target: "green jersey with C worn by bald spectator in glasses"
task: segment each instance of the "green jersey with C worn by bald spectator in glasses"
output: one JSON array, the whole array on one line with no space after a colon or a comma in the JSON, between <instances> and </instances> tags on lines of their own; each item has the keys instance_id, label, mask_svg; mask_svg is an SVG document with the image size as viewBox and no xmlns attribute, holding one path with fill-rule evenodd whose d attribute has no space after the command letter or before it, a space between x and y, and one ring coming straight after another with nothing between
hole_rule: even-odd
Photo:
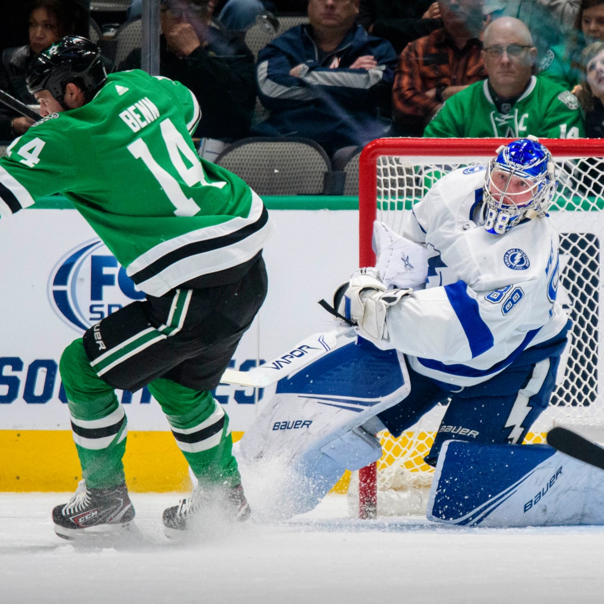
<instances>
[{"instance_id":1,"label":"green jersey with C worn by bald spectator in glasses","mask_svg":"<svg viewBox=\"0 0 604 604\"><path fill-rule=\"evenodd\" d=\"M487 86L476 82L443 104L423 135L432 138L581 138L585 120L579 101L559 84L531 77L528 88L509 108L499 112Z\"/></svg>"}]
</instances>

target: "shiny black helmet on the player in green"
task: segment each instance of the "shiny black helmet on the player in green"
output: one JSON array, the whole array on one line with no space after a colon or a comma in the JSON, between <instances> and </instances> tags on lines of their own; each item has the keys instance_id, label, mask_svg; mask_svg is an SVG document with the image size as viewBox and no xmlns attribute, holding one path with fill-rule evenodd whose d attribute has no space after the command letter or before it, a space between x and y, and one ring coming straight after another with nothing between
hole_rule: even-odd
<instances>
[{"instance_id":1,"label":"shiny black helmet on the player in green","mask_svg":"<svg viewBox=\"0 0 604 604\"><path fill-rule=\"evenodd\" d=\"M100 49L82 36L65 36L45 48L31 61L25 77L31 94L48 90L63 106L69 82L80 86L89 101L106 79Z\"/></svg>"}]
</instances>

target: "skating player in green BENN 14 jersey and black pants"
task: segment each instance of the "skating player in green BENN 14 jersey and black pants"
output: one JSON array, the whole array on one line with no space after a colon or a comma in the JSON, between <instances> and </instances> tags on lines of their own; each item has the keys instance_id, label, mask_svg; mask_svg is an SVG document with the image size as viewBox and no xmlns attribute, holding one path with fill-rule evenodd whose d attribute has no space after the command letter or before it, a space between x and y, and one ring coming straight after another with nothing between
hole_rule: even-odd
<instances>
[{"instance_id":1,"label":"skating player in green BENN 14 jersey and black pants","mask_svg":"<svg viewBox=\"0 0 604 604\"><path fill-rule=\"evenodd\" d=\"M229 420L210 391L266 295L266 208L240 178L199 159L190 137L199 106L180 83L140 70L107 76L98 48L78 36L40 53L27 83L43 119L0 159L0 214L62 193L146 294L63 352L85 484L53 510L57 535L114 532L134 517L114 388L144 385L199 480L164 511L166 534L184 534L216 498L247 518Z\"/></svg>"}]
</instances>

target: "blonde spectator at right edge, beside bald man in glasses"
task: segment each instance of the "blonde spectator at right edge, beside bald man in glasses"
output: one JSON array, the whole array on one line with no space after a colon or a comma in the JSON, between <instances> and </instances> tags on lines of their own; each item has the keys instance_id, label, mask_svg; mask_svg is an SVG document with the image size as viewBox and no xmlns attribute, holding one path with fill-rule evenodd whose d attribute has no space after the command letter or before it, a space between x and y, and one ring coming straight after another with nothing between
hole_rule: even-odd
<instances>
[{"instance_id":1,"label":"blonde spectator at right edge, beside bald man in glasses","mask_svg":"<svg viewBox=\"0 0 604 604\"><path fill-rule=\"evenodd\" d=\"M581 59L584 82L577 98L585 111L585 136L604 138L604 42L592 42Z\"/></svg>"}]
</instances>

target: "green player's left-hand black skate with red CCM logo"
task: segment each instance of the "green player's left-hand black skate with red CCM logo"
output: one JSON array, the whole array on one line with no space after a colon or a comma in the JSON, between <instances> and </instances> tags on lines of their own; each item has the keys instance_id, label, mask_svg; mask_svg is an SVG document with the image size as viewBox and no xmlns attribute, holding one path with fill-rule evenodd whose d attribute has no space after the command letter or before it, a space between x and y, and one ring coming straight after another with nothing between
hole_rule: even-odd
<instances>
[{"instance_id":1,"label":"green player's left-hand black skate with red CCM logo","mask_svg":"<svg viewBox=\"0 0 604 604\"><path fill-rule=\"evenodd\" d=\"M53 509L54 532L63 539L120 533L134 518L125 484L88 489L81 480L71 500Z\"/></svg>"}]
</instances>

